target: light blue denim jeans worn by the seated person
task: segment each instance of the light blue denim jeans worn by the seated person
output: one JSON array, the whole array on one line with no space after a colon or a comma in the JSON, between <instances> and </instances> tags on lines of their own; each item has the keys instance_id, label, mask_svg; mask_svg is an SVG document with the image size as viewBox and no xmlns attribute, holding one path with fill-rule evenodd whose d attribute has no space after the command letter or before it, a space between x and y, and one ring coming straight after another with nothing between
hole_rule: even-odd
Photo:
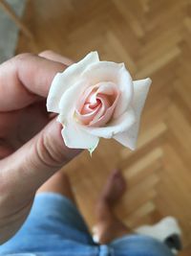
<instances>
[{"instance_id":1,"label":"light blue denim jeans worn by the seated person","mask_svg":"<svg viewBox=\"0 0 191 256\"><path fill-rule=\"evenodd\" d=\"M54 193L34 198L27 221L0 255L22 256L172 256L165 244L142 235L127 235L110 244L95 244L74 204Z\"/></svg>"}]
</instances>

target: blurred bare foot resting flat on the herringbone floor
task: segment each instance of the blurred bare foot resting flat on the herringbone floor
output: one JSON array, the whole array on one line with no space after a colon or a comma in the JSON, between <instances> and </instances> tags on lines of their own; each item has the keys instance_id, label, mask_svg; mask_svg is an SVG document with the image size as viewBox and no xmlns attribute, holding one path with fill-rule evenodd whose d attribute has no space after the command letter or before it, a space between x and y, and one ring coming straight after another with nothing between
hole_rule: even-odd
<instances>
[{"instance_id":1,"label":"blurred bare foot resting flat on the herringbone floor","mask_svg":"<svg viewBox=\"0 0 191 256\"><path fill-rule=\"evenodd\" d=\"M125 178L119 170L114 170L108 177L107 183L99 199L104 200L108 206L114 206L118 199L122 197L125 190Z\"/></svg>"}]
</instances>

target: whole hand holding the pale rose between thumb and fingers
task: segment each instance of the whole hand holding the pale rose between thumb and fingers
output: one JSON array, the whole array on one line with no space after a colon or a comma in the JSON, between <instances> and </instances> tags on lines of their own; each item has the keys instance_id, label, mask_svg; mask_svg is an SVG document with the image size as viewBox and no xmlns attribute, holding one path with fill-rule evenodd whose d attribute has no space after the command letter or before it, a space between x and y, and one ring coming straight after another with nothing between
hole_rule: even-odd
<instances>
[{"instance_id":1,"label":"whole hand holding the pale rose between thumb and fingers","mask_svg":"<svg viewBox=\"0 0 191 256\"><path fill-rule=\"evenodd\" d=\"M0 65L0 244L26 220L35 191L79 152L46 111L53 77L70 63L44 52Z\"/></svg>"}]
</instances>

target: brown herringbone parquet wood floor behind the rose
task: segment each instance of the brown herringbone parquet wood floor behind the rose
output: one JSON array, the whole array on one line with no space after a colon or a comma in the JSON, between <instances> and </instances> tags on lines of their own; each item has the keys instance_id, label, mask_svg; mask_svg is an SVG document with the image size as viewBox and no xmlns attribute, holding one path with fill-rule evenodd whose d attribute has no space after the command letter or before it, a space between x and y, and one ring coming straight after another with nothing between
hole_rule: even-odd
<instances>
[{"instance_id":1,"label":"brown herringbone parquet wood floor behind the rose","mask_svg":"<svg viewBox=\"0 0 191 256\"><path fill-rule=\"evenodd\" d=\"M101 59L124 61L134 79L152 78L138 150L103 140L92 158L84 152L66 170L92 225L107 175L121 168L128 191L117 215L131 227L175 216L183 230L182 255L190 255L191 1L31 0L24 20L35 44L20 35L18 53L52 49L79 59L97 50Z\"/></svg>"}]
</instances>

